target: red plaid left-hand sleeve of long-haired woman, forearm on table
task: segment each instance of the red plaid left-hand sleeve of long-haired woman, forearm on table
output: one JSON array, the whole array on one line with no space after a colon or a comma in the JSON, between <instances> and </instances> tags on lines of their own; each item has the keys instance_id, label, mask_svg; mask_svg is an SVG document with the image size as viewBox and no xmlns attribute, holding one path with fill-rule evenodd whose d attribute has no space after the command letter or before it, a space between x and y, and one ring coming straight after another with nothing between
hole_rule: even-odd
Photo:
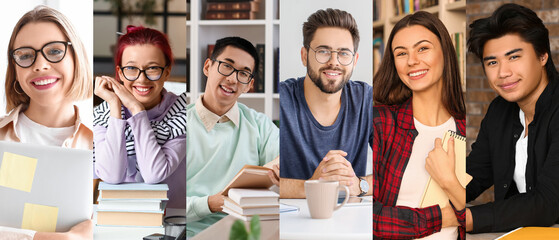
<instances>
[{"instance_id":1,"label":"red plaid left-hand sleeve of long-haired woman, forearm on table","mask_svg":"<svg viewBox=\"0 0 559 240\"><path fill-rule=\"evenodd\" d=\"M379 117L375 111L374 116ZM382 120L381 120L382 121ZM374 238L412 239L441 231L442 213L438 205L427 208L387 206L379 201L386 179L379 175L383 156L381 127L373 124L373 235Z\"/></svg>"}]
</instances>

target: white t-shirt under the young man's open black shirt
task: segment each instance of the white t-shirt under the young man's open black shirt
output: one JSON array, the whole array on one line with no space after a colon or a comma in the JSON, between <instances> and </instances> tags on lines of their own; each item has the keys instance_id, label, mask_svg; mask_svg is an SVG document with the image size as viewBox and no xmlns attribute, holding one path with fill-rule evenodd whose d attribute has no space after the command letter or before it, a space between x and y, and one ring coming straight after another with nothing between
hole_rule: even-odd
<instances>
[{"instance_id":1,"label":"white t-shirt under the young man's open black shirt","mask_svg":"<svg viewBox=\"0 0 559 240\"><path fill-rule=\"evenodd\" d=\"M522 124L522 133L516 141L516 154L514 166L514 182L518 188L518 192L526 192L526 164L528 163L528 136L526 136L526 120L522 109L518 112L520 123Z\"/></svg>"}]
</instances>

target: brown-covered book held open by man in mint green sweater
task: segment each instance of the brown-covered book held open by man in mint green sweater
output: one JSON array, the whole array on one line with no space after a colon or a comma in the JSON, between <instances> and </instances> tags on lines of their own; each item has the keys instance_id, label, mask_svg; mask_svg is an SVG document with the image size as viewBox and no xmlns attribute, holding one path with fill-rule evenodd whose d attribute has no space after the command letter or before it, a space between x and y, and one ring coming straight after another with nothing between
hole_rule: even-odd
<instances>
[{"instance_id":1,"label":"brown-covered book held open by man in mint green sweater","mask_svg":"<svg viewBox=\"0 0 559 240\"><path fill-rule=\"evenodd\" d=\"M231 188L265 188L268 189L274 185L268 171L272 169L267 167L245 165L233 179L223 188L222 194L228 196Z\"/></svg>"}]
</instances>

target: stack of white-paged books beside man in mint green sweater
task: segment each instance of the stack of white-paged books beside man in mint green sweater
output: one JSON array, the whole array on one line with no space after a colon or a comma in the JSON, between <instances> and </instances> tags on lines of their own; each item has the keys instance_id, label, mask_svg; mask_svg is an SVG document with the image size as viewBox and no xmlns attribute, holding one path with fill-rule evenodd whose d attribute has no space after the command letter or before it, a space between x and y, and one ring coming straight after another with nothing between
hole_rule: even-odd
<instances>
[{"instance_id":1,"label":"stack of white-paged books beside man in mint green sweater","mask_svg":"<svg viewBox=\"0 0 559 240\"><path fill-rule=\"evenodd\" d=\"M279 194L268 189L231 188L223 203L223 212L244 221L254 215L260 220L279 219Z\"/></svg>"}]
</instances>

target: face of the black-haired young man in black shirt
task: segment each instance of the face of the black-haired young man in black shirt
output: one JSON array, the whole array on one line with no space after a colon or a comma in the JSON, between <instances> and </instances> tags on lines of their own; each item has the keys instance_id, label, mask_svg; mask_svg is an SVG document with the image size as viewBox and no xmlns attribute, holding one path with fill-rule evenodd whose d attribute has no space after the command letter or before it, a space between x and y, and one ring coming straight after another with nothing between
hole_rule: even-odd
<instances>
[{"instance_id":1,"label":"face of the black-haired young man in black shirt","mask_svg":"<svg viewBox=\"0 0 559 240\"><path fill-rule=\"evenodd\" d=\"M533 46L517 34L487 41L483 66L489 85L509 102L535 103L547 86L547 53L537 56Z\"/></svg>"}]
</instances>

